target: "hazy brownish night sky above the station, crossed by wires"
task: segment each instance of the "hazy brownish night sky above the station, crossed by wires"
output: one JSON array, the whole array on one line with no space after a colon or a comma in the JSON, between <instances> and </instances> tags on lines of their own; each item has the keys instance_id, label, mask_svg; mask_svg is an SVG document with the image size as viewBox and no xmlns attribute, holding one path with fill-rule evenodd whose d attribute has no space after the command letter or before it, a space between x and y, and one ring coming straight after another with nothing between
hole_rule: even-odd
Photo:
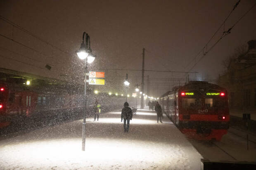
<instances>
[{"instance_id":1,"label":"hazy brownish night sky above the station, crossed by wires","mask_svg":"<svg viewBox=\"0 0 256 170\"><path fill-rule=\"evenodd\" d=\"M75 52L85 31L90 35L91 48L97 56L90 70L140 70L144 47L146 70L189 71L202 53L195 60L193 58L210 40L237 1L1 0L0 16L58 49L0 19L0 68L82 82L84 63ZM225 22L225 31L255 3L255 0L241 0ZM220 38L223 30L221 27L208 44L208 49ZM191 71L198 74L196 77L190 74L190 78L217 79L223 72L222 60L236 47L252 39L256 39L256 6L192 68ZM52 69L45 68L46 64ZM141 83L141 72L108 70L107 84L93 88L122 93L126 73L131 82L129 92L132 92L134 85ZM179 84L163 80L185 79L184 73L145 72L146 85L147 75L150 95L154 96Z\"/></svg>"}]
</instances>

